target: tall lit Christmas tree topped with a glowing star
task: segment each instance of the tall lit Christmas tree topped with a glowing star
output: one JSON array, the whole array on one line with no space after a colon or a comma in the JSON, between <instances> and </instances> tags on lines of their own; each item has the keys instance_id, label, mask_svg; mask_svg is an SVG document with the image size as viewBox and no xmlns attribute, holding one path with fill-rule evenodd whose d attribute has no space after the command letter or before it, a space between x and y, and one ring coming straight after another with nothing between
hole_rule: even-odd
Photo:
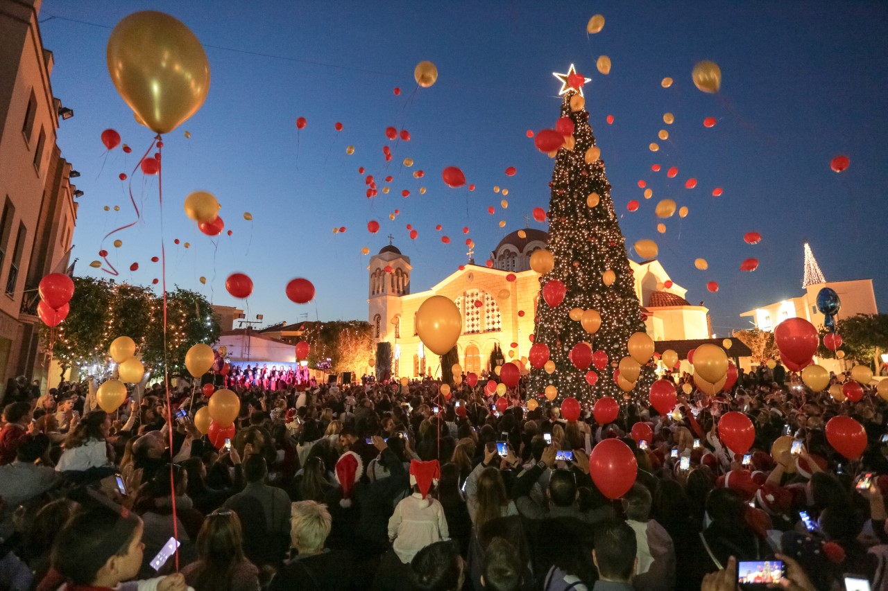
<instances>
[{"instance_id":1,"label":"tall lit Christmas tree topped with a glowing star","mask_svg":"<svg viewBox=\"0 0 888 591\"><path fill-rule=\"evenodd\" d=\"M611 201L611 185L584 106L582 87L588 79L577 75L573 65L567 74L556 74L556 77L562 82L560 94L563 95L561 119L556 128L565 135L565 144L555 157L550 183L547 248L554 266L540 277L542 291L534 331L534 343L548 346L554 371L533 368L528 394L538 396L551 385L558 389L557 401L568 396L587 403L594 403L602 396L622 400L623 390L614 382L614 370L628 355L630 335L646 332L645 324L626 256L625 239ZM552 281L556 289L550 293L555 297L550 297L547 303L547 284ZM564 284L565 295L563 301L555 304L560 288L558 281ZM594 329L596 315L586 312L587 318L581 322L583 311L598 312L600 326L594 333L583 325ZM591 345L591 351L596 351L595 363L588 368L579 368L572 361L575 358L572 350L583 342ZM577 352L583 353L583 347L579 349ZM598 351L604 351L607 360ZM583 359L574 360L578 360L580 366L585 365ZM551 370L551 364L548 369ZM634 392L646 393L653 380L650 368L642 367Z\"/></svg>"}]
</instances>

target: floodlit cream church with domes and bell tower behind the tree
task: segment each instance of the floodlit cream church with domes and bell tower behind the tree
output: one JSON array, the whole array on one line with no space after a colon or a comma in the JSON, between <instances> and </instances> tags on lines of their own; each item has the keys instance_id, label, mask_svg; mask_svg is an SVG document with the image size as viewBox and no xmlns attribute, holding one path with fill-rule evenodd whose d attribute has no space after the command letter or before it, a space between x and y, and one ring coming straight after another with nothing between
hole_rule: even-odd
<instances>
[{"instance_id":1,"label":"floodlit cream church with domes and bell tower behind the tree","mask_svg":"<svg viewBox=\"0 0 888 591\"><path fill-rule=\"evenodd\" d=\"M392 344L392 374L440 375L439 359L416 335L416 311L426 298L446 296L463 315L463 335L456 343L464 371L490 371L490 354L498 346L506 359L527 367L534 315L540 292L539 275L530 256L545 248L549 235L525 228L511 232L490 253L488 264L462 265L425 291L411 293L410 257L389 244L370 258L369 321L374 343ZM470 250L470 253L472 251ZM470 254L471 256L471 254ZM709 339L709 309L685 299L686 289L670 280L656 261L635 263L635 291L642 303L647 334L654 341Z\"/></svg>"}]
</instances>

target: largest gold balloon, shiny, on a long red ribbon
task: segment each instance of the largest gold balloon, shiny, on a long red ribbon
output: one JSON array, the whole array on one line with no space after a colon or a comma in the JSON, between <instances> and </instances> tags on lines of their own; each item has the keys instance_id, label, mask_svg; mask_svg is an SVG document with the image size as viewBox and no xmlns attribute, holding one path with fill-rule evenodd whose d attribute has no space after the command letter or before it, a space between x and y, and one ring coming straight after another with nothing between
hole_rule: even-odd
<instances>
[{"instance_id":1,"label":"largest gold balloon, shiny, on a long red ribbon","mask_svg":"<svg viewBox=\"0 0 888 591\"><path fill-rule=\"evenodd\" d=\"M155 133L175 130L210 91L201 42L163 12L133 12L117 23L108 38L107 66L137 121Z\"/></svg>"}]
</instances>

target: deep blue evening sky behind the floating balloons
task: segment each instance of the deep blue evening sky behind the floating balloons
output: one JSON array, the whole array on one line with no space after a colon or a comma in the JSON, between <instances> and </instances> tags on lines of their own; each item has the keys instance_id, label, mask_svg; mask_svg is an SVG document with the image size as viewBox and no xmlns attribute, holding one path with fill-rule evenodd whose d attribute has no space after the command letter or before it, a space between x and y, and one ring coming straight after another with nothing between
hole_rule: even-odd
<instances>
[{"instance_id":1,"label":"deep blue evening sky behind the floating balloons","mask_svg":"<svg viewBox=\"0 0 888 591\"><path fill-rule=\"evenodd\" d=\"M89 263L98 258L102 236L134 219L127 185L117 175L131 174L152 134L117 95L105 48L118 20L146 9L169 12L210 46L209 97L164 139L170 286L246 307L225 290L229 273L246 272L255 283L250 314L262 313L266 322L297 321L304 313L365 319L369 257L361 248L376 252L390 232L411 258L413 291L465 262L464 226L483 262L497 241L524 227L525 216L549 200L553 161L535 150L525 131L554 125L560 102L551 72L575 63L592 79L586 106L627 243L656 240L663 266L688 289L691 303L710 307L719 335L748 326L741 311L801 294L805 240L828 280L872 278L884 303L885 4L45 0L40 18L44 45L55 54L53 92L75 110L61 122L59 145L82 173L73 252L80 274L107 277ZM587 35L586 21L595 13L607 23ZM46 20L51 15L58 18ZM613 62L607 76L596 70L599 55ZM425 59L440 77L413 96L413 68ZM718 95L691 82L701 59L721 67ZM664 76L675 79L670 89L660 85ZM663 124L666 112L675 114L674 124ZM607 114L614 115L613 125ZM299 116L308 125L297 132ZM702 126L708 116L718 119L714 128ZM334 130L335 122L345 129ZM406 127L411 140L388 142L389 125ZM132 154L118 147L103 168L99 134L106 128L118 130ZM661 129L669 140L657 139ZM656 154L647 147L652 141L661 146ZM394 151L388 166L386 144ZM350 145L353 155L345 154ZM829 169L838 154L851 158L840 175ZM412 169L401 165L407 157L416 162ZM654 163L662 164L661 172L652 172ZM462 168L477 189L445 186L440 173L449 165ZM379 189L392 175L391 193L380 190L368 200L360 166L376 176ZM509 166L518 169L516 176L505 176ZM678 166L678 177L666 177L670 166ZM418 169L424 178L413 177ZM684 188L688 177L698 181L693 190ZM651 200L643 198L639 179L653 189ZM495 185L509 190L508 209L500 207ZM421 186L428 188L424 195ZM715 187L723 188L721 197L711 195ZM233 236L210 239L186 218L182 202L198 189L218 197ZM403 189L411 192L407 199ZM150 284L160 277L160 264L150 262L160 255L162 238L156 177L137 173L132 191L144 206L143 220L108 239L106 248L122 280ZM690 213L665 220L661 235L654 206L662 198ZM629 213L633 199L641 207ZM491 205L495 215L488 215ZM395 209L400 215L392 222ZM243 219L245 211L252 222ZM372 219L382 226L375 235L367 231ZM408 224L419 232L417 240L409 240ZM530 225L543 228L532 219ZM334 234L340 226L347 232ZM764 240L746 245L749 231ZM441 235L451 243L443 244ZM111 246L115 238L123 240L121 248ZM759 269L740 272L749 256L757 256ZM696 257L709 261L709 271L694 269ZM129 271L133 262L139 271ZM313 281L315 302L289 302L284 286L293 277ZM710 280L718 281L718 293L706 290Z\"/></svg>"}]
</instances>

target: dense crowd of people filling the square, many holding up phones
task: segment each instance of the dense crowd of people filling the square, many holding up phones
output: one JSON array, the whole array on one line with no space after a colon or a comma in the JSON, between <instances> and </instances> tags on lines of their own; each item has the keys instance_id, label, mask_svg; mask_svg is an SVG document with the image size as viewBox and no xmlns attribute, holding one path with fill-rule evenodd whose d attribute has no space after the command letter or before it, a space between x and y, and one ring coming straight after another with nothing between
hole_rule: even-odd
<instances>
[{"instance_id":1,"label":"dense crowd of people filling the square, many holding up phones","mask_svg":"<svg viewBox=\"0 0 888 591\"><path fill-rule=\"evenodd\" d=\"M868 386L839 403L741 372L731 392L678 388L670 414L630 401L598 424L511 392L501 414L465 382L235 385L234 437L213 445L193 422L209 398L184 382L170 406L155 384L114 413L88 382L25 385L0 430L0 589L888 588L888 403ZM719 437L728 411L755 424L748 458ZM867 431L857 461L825 437L839 414ZM638 463L618 500L589 461L613 437Z\"/></svg>"}]
</instances>

